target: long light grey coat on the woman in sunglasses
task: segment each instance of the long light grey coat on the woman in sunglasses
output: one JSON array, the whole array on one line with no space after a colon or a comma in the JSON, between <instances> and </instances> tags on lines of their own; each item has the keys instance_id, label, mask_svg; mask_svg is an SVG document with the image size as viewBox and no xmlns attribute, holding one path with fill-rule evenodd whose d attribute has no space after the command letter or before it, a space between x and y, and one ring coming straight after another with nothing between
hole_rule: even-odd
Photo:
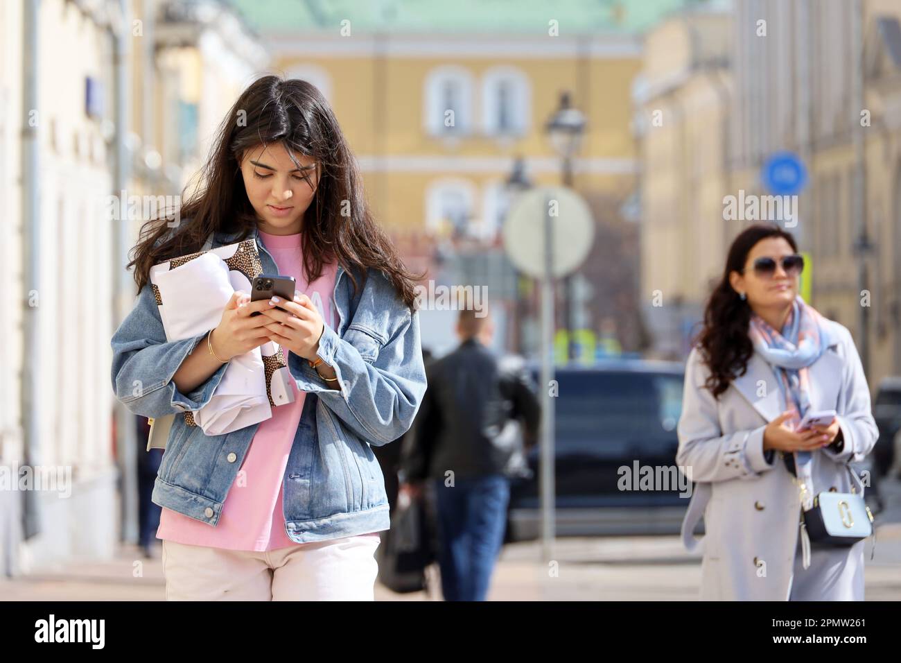
<instances>
[{"instance_id":1,"label":"long light grey coat on the woman in sunglasses","mask_svg":"<svg viewBox=\"0 0 901 663\"><path fill-rule=\"evenodd\" d=\"M839 413L844 447L814 452L814 493L850 493L847 464L869 454L878 430L851 333L834 321L828 327L831 343L810 366L810 401L813 410ZM697 482L682 535L688 549L704 552L701 598L862 600L865 541L814 548L807 569L798 560L798 488L778 454L770 464L763 453L763 429L783 410L769 364L755 352L718 401L704 388L708 374L695 348L687 360L677 463ZM702 514L705 537L697 541L692 530Z\"/></svg>"}]
</instances>

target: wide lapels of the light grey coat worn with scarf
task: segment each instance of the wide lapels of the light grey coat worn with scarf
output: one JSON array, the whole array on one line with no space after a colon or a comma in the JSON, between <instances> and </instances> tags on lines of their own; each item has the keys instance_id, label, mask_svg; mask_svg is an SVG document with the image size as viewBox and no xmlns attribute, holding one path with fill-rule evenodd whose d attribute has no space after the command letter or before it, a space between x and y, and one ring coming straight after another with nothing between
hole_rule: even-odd
<instances>
[{"instance_id":1,"label":"wide lapels of the light grey coat worn with scarf","mask_svg":"<svg viewBox=\"0 0 901 663\"><path fill-rule=\"evenodd\" d=\"M829 345L823 355L810 365L810 404L815 410L833 408L841 387L843 361L834 352L838 335L829 336ZM748 360L748 370L732 384L767 421L776 419L782 412L782 392L776 382L776 373L756 350Z\"/></svg>"}]
</instances>

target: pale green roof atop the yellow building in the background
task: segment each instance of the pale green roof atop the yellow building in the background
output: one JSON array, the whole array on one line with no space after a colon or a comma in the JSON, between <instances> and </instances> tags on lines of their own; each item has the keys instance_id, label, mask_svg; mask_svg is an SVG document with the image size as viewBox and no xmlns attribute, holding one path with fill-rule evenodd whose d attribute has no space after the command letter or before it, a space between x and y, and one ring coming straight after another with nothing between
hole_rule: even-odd
<instances>
[{"instance_id":1,"label":"pale green roof atop the yellow building in the background","mask_svg":"<svg viewBox=\"0 0 901 663\"><path fill-rule=\"evenodd\" d=\"M256 32L479 32L547 34L644 32L687 5L704 0L228 0Z\"/></svg>"}]
</instances>

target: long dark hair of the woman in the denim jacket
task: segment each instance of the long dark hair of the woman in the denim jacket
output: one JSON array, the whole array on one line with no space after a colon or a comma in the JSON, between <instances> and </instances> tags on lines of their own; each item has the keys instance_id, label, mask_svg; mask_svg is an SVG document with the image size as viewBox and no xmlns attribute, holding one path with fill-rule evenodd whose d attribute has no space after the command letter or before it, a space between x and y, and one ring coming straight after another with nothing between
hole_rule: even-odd
<instances>
[{"instance_id":1,"label":"long dark hair of the woman in the denim jacket","mask_svg":"<svg viewBox=\"0 0 901 663\"><path fill-rule=\"evenodd\" d=\"M323 262L337 259L350 274L375 267L390 280L413 310L414 281L385 232L378 226L363 194L362 178L332 108L312 84L296 78L265 76L250 84L232 106L216 136L200 186L181 207L183 222L173 231L172 214L150 219L132 249L134 281L140 291L158 262L199 251L214 231L246 237L257 224L241 176L241 154L257 145L282 143L297 167L293 152L314 157L320 179L302 229L304 269L308 281L322 273ZM348 215L348 213L350 213ZM308 220L309 219L309 220ZM170 236L164 237L169 231ZM238 241L238 240L236 240Z\"/></svg>"}]
</instances>

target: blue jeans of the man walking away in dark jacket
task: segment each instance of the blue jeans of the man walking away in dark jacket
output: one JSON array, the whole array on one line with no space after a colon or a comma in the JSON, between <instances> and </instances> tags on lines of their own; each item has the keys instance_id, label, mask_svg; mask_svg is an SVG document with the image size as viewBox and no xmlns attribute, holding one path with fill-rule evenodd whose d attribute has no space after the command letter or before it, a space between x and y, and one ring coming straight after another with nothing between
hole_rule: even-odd
<instances>
[{"instance_id":1,"label":"blue jeans of the man walking away in dark jacket","mask_svg":"<svg viewBox=\"0 0 901 663\"><path fill-rule=\"evenodd\" d=\"M504 541L509 479L486 474L433 487L444 600L484 601Z\"/></svg>"}]
</instances>

